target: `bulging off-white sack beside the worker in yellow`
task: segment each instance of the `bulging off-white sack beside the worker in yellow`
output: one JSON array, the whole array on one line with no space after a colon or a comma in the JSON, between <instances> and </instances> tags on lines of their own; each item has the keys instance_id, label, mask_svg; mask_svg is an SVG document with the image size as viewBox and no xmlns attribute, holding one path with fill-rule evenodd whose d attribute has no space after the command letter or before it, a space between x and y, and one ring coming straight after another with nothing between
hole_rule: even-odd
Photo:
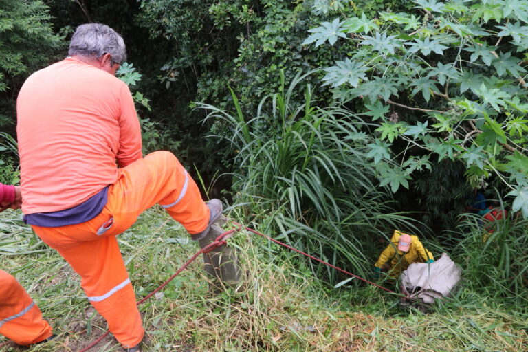
<instances>
[{"instance_id":1,"label":"bulging off-white sack beside the worker in yellow","mask_svg":"<svg viewBox=\"0 0 528 352\"><path fill-rule=\"evenodd\" d=\"M460 281L461 269L443 253L434 263L412 263L401 274L401 292L411 300L433 303L448 297Z\"/></svg>"}]
</instances>

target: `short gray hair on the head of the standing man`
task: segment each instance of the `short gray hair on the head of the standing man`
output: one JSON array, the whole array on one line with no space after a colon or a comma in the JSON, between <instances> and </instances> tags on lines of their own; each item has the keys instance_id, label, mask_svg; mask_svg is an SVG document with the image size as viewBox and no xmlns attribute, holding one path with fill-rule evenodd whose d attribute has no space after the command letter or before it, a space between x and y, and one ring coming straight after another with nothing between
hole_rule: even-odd
<instances>
[{"instance_id":1,"label":"short gray hair on the head of the standing man","mask_svg":"<svg viewBox=\"0 0 528 352\"><path fill-rule=\"evenodd\" d=\"M126 47L122 36L107 25L87 23L78 26L69 43L68 55L99 58L110 54L114 63L126 60Z\"/></svg>"}]
</instances>

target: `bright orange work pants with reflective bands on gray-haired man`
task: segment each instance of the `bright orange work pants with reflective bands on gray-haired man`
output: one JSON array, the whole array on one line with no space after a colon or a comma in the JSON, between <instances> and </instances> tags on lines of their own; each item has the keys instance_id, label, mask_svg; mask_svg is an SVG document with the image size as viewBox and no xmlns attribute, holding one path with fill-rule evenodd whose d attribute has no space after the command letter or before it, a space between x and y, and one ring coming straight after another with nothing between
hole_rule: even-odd
<instances>
[{"instance_id":1,"label":"bright orange work pants with reflective bands on gray-haired man","mask_svg":"<svg viewBox=\"0 0 528 352\"><path fill-rule=\"evenodd\" d=\"M156 203L190 234L206 229L210 210L172 153L151 153L118 172L118 180L109 186L107 205L94 219L57 228L32 227L81 276L88 300L115 338L123 347L133 347L142 340L144 329L115 236Z\"/></svg>"}]
</instances>

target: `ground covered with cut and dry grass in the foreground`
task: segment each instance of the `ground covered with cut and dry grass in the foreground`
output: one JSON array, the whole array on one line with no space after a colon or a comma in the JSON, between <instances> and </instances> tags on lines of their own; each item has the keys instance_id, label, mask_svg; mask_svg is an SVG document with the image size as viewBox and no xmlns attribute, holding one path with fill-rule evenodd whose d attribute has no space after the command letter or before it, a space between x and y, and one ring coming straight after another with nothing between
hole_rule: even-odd
<instances>
[{"instance_id":1,"label":"ground covered with cut and dry grass in the foreground","mask_svg":"<svg viewBox=\"0 0 528 352\"><path fill-rule=\"evenodd\" d=\"M1 214L0 267L17 277L59 336L30 348L0 337L0 351L77 352L101 336L106 323L89 305L78 275L20 217ZM199 250L158 209L145 212L119 239L137 298ZM241 252L243 287L213 294L197 259L140 305L143 351L527 351L527 305L489 300L462 282L453 299L423 314L373 286L335 289L318 281L298 254L259 236L239 232L229 241ZM109 336L90 351L120 346Z\"/></svg>"}]
</instances>

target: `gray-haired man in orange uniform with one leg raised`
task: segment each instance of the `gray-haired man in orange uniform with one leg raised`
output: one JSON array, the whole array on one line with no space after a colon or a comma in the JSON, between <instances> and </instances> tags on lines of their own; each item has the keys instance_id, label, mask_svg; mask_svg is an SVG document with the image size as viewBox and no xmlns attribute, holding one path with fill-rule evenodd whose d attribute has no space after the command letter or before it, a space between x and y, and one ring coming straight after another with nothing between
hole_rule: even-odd
<instances>
[{"instance_id":1,"label":"gray-haired man in orange uniform with one leg raised","mask_svg":"<svg viewBox=\"0 0 528 352\"><path fill-rule=\"evenodd\" d=\"M126 59L119 34L99 23L80 25L68 54L32 74L19 93L22 210L80 274L88 300L125 351L140 351L144 329L115 236L159 203L199 240L222 205L203 202L172 153L142 157L132 96L115 78Z\"/></svg>"}]
</instances>

